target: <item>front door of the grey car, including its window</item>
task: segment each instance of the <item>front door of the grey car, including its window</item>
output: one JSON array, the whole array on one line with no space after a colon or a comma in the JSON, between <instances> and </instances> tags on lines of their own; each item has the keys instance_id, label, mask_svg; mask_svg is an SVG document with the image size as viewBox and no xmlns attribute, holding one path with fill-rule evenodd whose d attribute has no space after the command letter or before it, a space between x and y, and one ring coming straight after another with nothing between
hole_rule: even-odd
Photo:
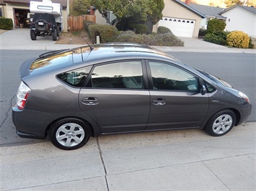
<instances>
[{"instance_id":1,"label":"front door of the grey car, including its window","mask_svg":"<svg viewBox=\"0 0 256 191\"><path fill-rule=\"evenodd\" d=\"M208 94L198 76L167 62L149 60L150 115L146 130L198 127L208 112Z\"/></svg>"}]
</instances>

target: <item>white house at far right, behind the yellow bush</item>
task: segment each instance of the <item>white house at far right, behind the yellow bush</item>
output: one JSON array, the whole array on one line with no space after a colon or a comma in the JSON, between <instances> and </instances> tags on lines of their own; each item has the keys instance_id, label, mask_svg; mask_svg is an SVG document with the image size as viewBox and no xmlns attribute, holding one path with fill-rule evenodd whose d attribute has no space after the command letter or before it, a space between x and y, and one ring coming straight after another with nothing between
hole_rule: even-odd
<instances>
[{"instance_id":1,"label":"white house at far right, behind the yellow bush","mask_svg":"<svg viewBox=\"0 0 256 191\"><path fill-rule=\"evenodd\" d=\"M256 38L256 8L253 6L234 5L219 13L226 17L226 30L239 30Z\"/></svg>"}]
</instances>

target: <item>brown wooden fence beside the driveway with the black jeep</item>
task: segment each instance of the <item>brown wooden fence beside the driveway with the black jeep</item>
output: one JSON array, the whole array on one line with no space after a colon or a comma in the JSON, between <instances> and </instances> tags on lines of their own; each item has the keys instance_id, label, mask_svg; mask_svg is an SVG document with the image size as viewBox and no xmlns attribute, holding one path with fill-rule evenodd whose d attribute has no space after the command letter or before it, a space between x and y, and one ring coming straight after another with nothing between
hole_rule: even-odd
<instances>
[{"instance_id":1,"label":"brown wooden fence beside the driveway with the black jeep","mask_svg":"<svg viewBox=\"0 0 256 191\"><path fill-rule=\"evenodd\" d=\"M84 29L84 21L96 22L96 16L89 14L84 14L81 16L69 16L69 31L74 32Z\"/></svg>"}]
</instances>

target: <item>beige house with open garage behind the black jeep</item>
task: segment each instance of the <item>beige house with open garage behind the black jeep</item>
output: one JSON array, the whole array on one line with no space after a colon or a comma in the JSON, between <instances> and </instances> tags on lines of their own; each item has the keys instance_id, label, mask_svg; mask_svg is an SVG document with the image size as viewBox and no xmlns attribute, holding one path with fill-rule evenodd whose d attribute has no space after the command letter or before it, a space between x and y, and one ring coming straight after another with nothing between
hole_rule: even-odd
<instances>
[{"instance_id":1,"label":"beige house with open garage behind the black jeep","mask_svg":"<svg viewBox=\"0 0 256 191\"><path fill-rule=\"evenodd\" d=\"M42 1L42 0L33 0ZM68 0L52 0L53 3L61 4L63 27L62 31L68 30L69 1ZM30 12L30 0L0 0L0 17L11 18L14 27L17 28L15 17L19 18L19 22L26 25L27 14Z\"/></svg>"}]
</instances>

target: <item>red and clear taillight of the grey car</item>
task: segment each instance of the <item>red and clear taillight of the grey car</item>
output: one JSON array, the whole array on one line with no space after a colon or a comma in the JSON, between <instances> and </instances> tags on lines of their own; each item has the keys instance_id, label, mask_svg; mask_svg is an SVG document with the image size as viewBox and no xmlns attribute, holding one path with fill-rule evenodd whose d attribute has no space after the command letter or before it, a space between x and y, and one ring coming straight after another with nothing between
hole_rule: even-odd
<instances>
[{"instance_id":1,"label":"red and clear taillight of the grey car","mask_svg":"<svg viewBox=\"0 0 256 191\"><path fill-rule=\"evenodd\" d=\"M24 109L29 95L30 95L30 88L28 88L27 85L25 85L25 83L21 82L17 92L17 107L19 109L21 110Z\"/></svg>"}]
</instances>

